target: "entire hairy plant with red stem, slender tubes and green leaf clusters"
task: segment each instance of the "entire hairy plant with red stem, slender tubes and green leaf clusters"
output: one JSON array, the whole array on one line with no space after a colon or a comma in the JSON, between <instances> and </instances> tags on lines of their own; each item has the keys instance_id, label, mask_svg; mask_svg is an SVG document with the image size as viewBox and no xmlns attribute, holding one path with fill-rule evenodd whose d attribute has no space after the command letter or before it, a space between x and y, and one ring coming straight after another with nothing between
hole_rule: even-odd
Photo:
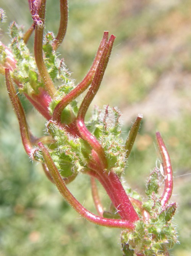
<instances>
[{"instance_id":1,"label":"entire hairy plant with red stem, slender tubes and green leaf clusters","mask_svg":"<svg viewBox=\"0 0 191 256\"><path fill-rule=\"evenodd\" d=\"M117 108L107 105L99 110L95 107L91 119L85 121L104 76L115 36L109 37L108 32L104 32L89 72L75 86L64 60L58 59L56 54L66 33L67 0L60 0L57 36L53 33L44 35L46 0L28 2L33 19L31 28L23 33L23 29L13 22L10 45L0 43L0 73L6 78L26 153L42 163L47 177L79 215L97 225L123 230L121 244L124 255L169 255L169 249L177 241L172 223L176 204L168 203L172 195L173 174L170 157L159 132L156 137L162 157L163 193L159 195L160 171L155 168L147 182L147 199L143 199L130 188L125 190L121 184L121 175L138 134L142 115L136 117L125 142L121 137L121 113ZM34 57L27 47L33 31ZM76 99L86 89L87 94L79 104ZM24 94L47 120L45 136L37 138L31 134L18 94ZM91 178L97 214L84 208L66 186L78 173ZM110 197L108 211L104 211L95 180L102 184Z\"/></svg>"}]
</instances>

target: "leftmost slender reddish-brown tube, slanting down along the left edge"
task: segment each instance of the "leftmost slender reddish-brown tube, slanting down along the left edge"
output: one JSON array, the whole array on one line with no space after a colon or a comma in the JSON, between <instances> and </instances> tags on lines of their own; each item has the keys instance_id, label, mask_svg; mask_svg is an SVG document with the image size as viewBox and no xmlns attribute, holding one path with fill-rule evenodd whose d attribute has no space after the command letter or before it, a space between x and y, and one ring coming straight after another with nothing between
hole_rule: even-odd
<instances>
[{"instance_id":1,"label":"leftmost slender reddish-brown tube, slanting down along the left edge","mask_svg":"<svg viewBox=\"0 0 191 256\"><path fill-rule=\"evenodd\" d=\"M6 87L7 87L8 93L9 93L9 97L10 97L11 103L15 109L16 116L19 121L19 128L20 128L20 132L21 132L21 139L23 142L23 146L24 146L26 153L28 155L30 155L32 152L32 145L31 145L31 141L30 141L28 124L26 122L24 109L23 109L21 102L19 100L19 97L16 93L16 89L13 86L13 83L11 81L11 75L10 75L10 71L8 68L5 69L5 78L6 78Z\"/></svg>"}]
</instances>

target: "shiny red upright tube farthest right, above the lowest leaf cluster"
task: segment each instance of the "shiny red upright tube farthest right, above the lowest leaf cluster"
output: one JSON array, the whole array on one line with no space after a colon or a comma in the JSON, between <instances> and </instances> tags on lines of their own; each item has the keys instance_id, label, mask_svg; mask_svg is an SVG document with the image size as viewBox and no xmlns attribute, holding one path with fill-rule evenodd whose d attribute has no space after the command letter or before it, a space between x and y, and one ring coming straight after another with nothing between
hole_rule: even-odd
<instances>
[{"instance_id":1,"label":"shiny red upright tube farthest right, above the lowest leaf cluster","mask_svg":"<svg viewBox=\"0 0 191 256\"><path fill-rule=\"evenodd\" d=\"M168 154L167 148L166 148L159 132L156 132L156 137L157 137L160 154L161 154L162 161L163 161L164 180L165 180L165 187L164 187L162 197L160 198L160 201L161 201L162 206L165 207L172 195L173 172L172 172L172 165L170 162L170 156Z\"/></svg>"}]
</instances>

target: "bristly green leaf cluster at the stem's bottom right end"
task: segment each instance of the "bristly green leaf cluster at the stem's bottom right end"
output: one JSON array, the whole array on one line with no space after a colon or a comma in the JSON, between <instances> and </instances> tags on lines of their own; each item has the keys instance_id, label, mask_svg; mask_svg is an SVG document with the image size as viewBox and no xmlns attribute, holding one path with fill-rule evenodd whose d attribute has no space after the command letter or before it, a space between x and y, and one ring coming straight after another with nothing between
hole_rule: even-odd
<instances>
[{"instance_id":1,"label":"bristly green leaf cluster at the stem's bottom right end","mask_svg":"<svg viewBox=\"0 0 191 256\"><path fill-rule=\"evenodd\" d=\"M176 204L163 208L159 200L158 188L159 173L155 168L147 182L147 201L142 204L142 213L146 211L145 219L136 222L133 232L122 232L121 243L124 255L139 255L139 253L148 256L165 255L177 243L176 226L173 224Z\"/></svg>"}]
</instances>

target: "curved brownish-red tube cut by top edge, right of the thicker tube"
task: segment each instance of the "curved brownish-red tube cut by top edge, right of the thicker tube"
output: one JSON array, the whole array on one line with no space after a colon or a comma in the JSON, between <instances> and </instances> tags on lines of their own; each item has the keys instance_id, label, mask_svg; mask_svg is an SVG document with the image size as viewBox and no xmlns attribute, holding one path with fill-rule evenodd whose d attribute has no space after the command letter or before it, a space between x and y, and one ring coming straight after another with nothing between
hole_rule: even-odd
<instances>
[{"instance_id":1,"label":"curved brownish-red tube cut by top edge, right of the thicker tube","mask_svg":"<svg viewBox=\"0 0 191 256\"><path fill-rule=\"evenodd\" d=\"M66 35L67 24L68 24L68 1L60 0L60 26L58 29L58 35L52 44L52 48L54 51L58 49L58 47L61 45Z\"/></svg>"}]
</instances>

